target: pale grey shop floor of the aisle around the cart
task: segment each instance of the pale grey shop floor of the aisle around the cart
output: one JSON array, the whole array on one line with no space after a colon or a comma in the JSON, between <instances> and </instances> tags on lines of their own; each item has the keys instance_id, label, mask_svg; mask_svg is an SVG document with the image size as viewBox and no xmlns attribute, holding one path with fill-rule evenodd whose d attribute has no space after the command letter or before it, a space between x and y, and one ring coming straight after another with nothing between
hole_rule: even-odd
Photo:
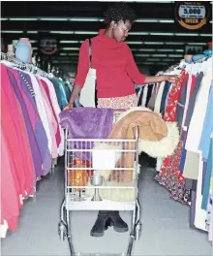
<instances>
[{"instance_id":1,"label":"pale grey shop floor of the aisle around the cart","mask_svg":"<svg viewBox=\"0 0 213 256\"><path fill-rule=\"evenodd\" d=\"M212 247L206 234L189 228L189 208L169 199L167 190L153 180L153 169L144 169L139 178L139 200L142 207L142 236L135 242L133 255L139 256L210 256ZM63 170L58 168L38 185L36 199L25 202L18 230L2 240L2 255L65 256L66 241L59 240L57 225L63 199ZM72 217L76 251L105 252L106 255L126 251L128 236L112 228L104 238L90 237L97 212L75 212ZM130 212L121 213L130 224Z\"/></svg>"}]
</instances>

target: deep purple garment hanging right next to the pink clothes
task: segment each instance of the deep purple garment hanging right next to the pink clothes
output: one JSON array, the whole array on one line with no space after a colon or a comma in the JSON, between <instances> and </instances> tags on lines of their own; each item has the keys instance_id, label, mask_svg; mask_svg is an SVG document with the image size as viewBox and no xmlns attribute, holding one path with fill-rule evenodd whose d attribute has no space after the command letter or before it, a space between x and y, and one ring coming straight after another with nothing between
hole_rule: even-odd
<instances>
[{"instance_id":1,"label":"deep purple garment hanging right next to the pink clothes","mask_svg":"<svg viewBox=\"0 0 213 256\"><path fill-rule=\"evenodd\" d=\"M35 138L35 134L33 132L33 127L32 127L31 121L30 121L29 113L27 111L26 104L23 100L23 97L20 93L20 89L17 86L13 72L10 69L7 69L7 72L8 72L10 84L15 92L16 99L19 102L21 111L23 113L23 118L24 118L26 130L27 130L27 137L29 140L31 154L32 154L32 158L33 158L33 164L34 164L34 168L36 171L36 177L40 177L43 174L42 158L41 158L39 146L38 146L36 138Z\"/></svg>"}]
</instances>

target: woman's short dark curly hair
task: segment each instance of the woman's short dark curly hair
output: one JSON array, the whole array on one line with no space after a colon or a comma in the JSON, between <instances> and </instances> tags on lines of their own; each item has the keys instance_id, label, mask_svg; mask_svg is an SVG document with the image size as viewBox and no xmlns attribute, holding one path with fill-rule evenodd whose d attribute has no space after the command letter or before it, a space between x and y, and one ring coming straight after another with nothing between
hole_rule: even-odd
<instances>
[{"instance_id":1,"label":"woman's short dark curly hair","mask_svg":"<svg viewBox=\"0 0 213 256\"><path fill-rule=\"evenodd\" d=\"M126 20L129 20L133 23L137 19L134 10L125 3L117 3L109 7L105 12L104 17L107 26L110 25L111 21L118 22L123 20L126 22Z\"/></svg>"}]
</instances>

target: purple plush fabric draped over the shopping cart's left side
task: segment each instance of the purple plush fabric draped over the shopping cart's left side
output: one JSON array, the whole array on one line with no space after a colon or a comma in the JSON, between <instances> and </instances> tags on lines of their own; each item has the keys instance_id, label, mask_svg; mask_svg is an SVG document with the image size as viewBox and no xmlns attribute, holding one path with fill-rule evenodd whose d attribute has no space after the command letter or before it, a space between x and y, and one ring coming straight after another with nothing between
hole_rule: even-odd
<instances>
[{"instance_id":1,"label":"purple plush fabric draped over the shopping cart's left side","mask_svg":"<svg viewBox=\"0 0 213 256\"><path fill-rule=\"evenodd\" d=\"M113 110L95 108L76 108L59 114L60 125L68 128L69 139L82 139L82 142L68 144L69 148L91 149L93 144L84 139L106 139L112 130ZM88 152L77 152L75 158L91 161Z\"/></svg>"}]
</instances>

